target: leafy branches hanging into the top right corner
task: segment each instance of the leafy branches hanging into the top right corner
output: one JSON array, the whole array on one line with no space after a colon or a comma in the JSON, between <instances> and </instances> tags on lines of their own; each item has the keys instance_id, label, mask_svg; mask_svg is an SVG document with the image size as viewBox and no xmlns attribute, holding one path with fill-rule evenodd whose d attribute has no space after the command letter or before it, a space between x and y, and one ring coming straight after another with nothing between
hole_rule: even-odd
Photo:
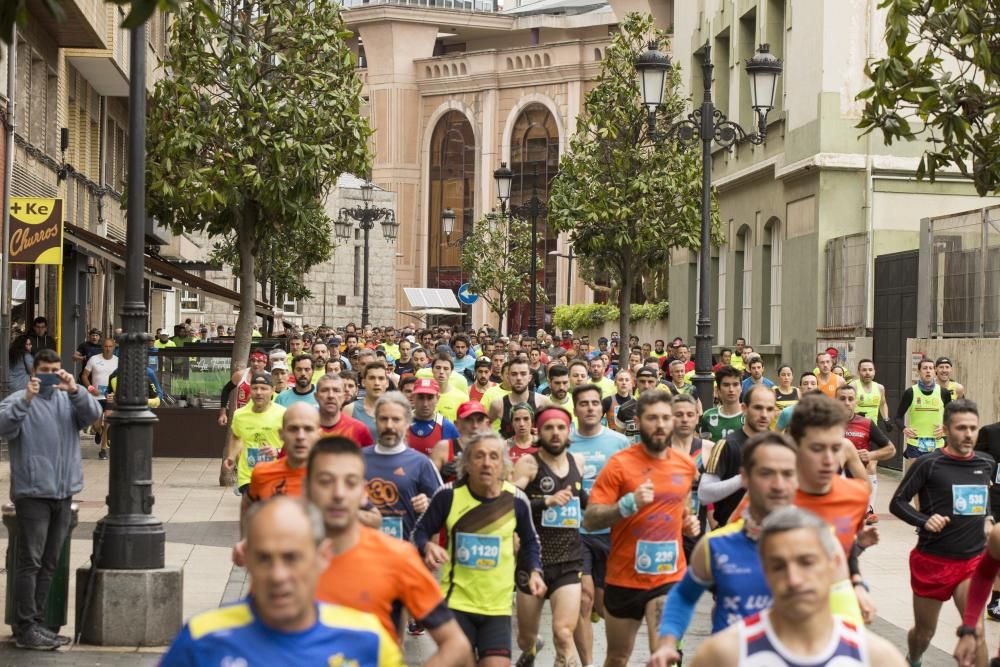
<instances>
[{"instance_id":1,"label":"leafy branches hanging into the top right corner","mask_svg":"<svg viewBox=\"0 0 1000 667\"><path fill-rule=\"evenodd\" d=\"M1000 190L1000 4L884 0L885 58L869 62L861 123L886 144L924 139L917 177L951 167L985 196Z\"/></svg>"}]
</instances>

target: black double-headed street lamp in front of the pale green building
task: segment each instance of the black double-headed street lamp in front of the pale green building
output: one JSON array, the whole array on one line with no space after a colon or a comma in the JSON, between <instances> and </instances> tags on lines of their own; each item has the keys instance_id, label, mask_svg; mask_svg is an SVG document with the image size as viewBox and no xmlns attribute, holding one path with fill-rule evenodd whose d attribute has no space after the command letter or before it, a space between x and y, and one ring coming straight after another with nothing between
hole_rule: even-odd
<instances>
[{"instance_id":1,"label":"black double-headed street lamp in front of the pale green building","mask_svg":"<svg viewBox=\"0 0 1000 667\"><path fill-rule=\"evenodd\" d=\"M656 128L656 111L663 104L664 83L670 71L670 59L663 54L656 42L635 61L639 78L642 103L646 107L649 136L654 142L668 140L674 133L682 142L701 141L701 252L699 253L698 326L695 334L694 385L703 402L712 396L712 327L708 317L710 307L709 264L711 262L712 224L712 144L730 148L740 140L762 144L767 138L767 114L774 109L774 94L781 75L782 63L771 54L767 44L746 61L750 76L750 106L757 118L748 134L738 123L726 118L712 102L712 48L706 43L702 49L702 82L704 84L701 108L693 110L684 120L674 123L666 131Z\"/></svg>"}]
</instances>

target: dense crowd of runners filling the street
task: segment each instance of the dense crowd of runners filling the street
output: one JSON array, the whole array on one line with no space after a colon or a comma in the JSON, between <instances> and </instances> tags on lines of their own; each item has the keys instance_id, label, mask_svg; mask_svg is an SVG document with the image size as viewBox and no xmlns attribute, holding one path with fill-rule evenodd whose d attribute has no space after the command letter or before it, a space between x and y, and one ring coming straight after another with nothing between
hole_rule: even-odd
<instances>
[{"instance_id":1,"label":"dense crowd of runners filling the street","mask_svg":"<svg viewBox=\"0 0 1000 667\"><path fill-rule=\"evenodd\" d=\"M645 623L653 667L912 666L953 600L956 660L985 667L1000 424L950 360L922 359L898 406L835 349L773 379L742 339L716 361L699 396L681 339L349 325L254 349L219 413L253 593L162 664L398 665L426 633L427 665L527 667L551 641L549 664L625 667ZM897 430L889 507L917 538L894 647L866 629L863 553ZM712 635L685 655L706 591Z\"/></svg>"}]
</instances>

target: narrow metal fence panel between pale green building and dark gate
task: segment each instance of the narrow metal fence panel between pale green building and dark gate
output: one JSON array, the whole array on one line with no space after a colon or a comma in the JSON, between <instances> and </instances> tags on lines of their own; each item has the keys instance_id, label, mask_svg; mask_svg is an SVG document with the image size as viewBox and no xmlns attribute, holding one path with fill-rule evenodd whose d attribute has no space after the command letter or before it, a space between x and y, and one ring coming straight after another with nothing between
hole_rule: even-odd
<instances>
[{"instance_id":1,"label":"narrow metal fence panel between pale green building and dark gate","mask_svg":"<svg viewBox=\"0 0 1000 667\"><path fill-rule=\"evenodd\" d=\"M859 327L865 322L866 234L826 242L826 326Z\"/></svg>"}]
</instances>

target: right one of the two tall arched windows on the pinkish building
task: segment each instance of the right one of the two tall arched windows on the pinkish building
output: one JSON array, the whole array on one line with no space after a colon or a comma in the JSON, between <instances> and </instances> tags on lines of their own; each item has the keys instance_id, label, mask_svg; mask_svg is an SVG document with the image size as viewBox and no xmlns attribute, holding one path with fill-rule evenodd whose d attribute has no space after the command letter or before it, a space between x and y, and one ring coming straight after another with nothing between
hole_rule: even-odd
<instances>
[{"instance_id":1,"label":"right one of the two tall arched windows on the pinkish building","mask_svg":"<svg viewBox=\"0 0 1000 667\"><path fill-rule=\"evenodd\" d=\"M548 201L549 184L559 169L559 129L555 117L544 105L529 104L514 122L510 138L510 169L514 172L511 203L526 203L536 193L542 202ZM547 295L548 303L544 306L539 303L536 313L539 326L551 323L556 304L558 258L549 254L556 248L556 234L549 230L548 219L543 214L538 218L538 252L544 258L538 267L538 293ZM510 326L514 330L527 329L529 310L528 307L512 310Z\"/></svg>"}]
</instances>

